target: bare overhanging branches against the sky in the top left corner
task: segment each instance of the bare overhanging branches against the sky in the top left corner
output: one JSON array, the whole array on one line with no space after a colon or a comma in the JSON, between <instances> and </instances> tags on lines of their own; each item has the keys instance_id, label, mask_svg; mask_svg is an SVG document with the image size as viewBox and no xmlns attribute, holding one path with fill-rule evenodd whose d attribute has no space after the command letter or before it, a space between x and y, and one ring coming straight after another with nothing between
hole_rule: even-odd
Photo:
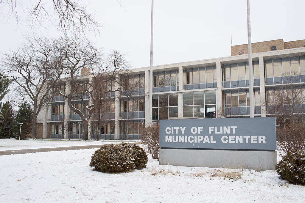
<instances>
[{"instance_id":1,"label":"bare overhanging branches against the sky in the top left corner","mask_svg":"<svg viewBox=\"0 0 305 203\"><path fill-rule=\"evenodd\" d=\"M29 26L54 25L72 33L97 32L101 24L94 19L87 5L75 0L31 1L30 5L17 0L1 0L0 14L15 17L17 24ZM23 19L23 15L26 16Z\"/></svg>"}]
</instances>

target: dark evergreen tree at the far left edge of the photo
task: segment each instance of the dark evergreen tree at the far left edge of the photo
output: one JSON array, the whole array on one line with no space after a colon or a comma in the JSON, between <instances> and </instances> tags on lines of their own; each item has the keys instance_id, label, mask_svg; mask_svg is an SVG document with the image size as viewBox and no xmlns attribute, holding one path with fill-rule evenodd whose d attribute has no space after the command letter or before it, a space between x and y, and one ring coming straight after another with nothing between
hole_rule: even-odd
<instances>
[{"instance_id":1,"label":"dark evergreen tree at the far left edge of the photo","mask_svg":"<svg viewBox=\"0 0 305 203\"><path fill-rule=\"evenodd\" d=\"M0 138L12 138L16 134L17 124L14 110L9 101L3 103L0 110Z\"/></svg>"}]
</instances>

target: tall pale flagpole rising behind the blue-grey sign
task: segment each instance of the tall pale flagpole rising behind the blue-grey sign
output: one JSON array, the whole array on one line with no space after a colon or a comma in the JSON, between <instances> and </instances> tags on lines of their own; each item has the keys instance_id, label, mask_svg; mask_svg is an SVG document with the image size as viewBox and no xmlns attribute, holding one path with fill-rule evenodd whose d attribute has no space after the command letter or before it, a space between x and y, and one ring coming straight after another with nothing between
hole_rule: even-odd
<instances>
[{"instance_id":1,"label":"tall pale flagpole rising behind the blue-grey sign","mask_svg":"<svg viewBox=\"0 0 305 203\"><path fill-rule=\"evenodd\" d=\"M248 23L248 56L249 56L249 93L250 93L250 118L254 117L253 100L253 66L252 66L252 46L251 46L251 26L250 26L250 3L247 0L247 23Z\"/></svg>"}]
</instances>

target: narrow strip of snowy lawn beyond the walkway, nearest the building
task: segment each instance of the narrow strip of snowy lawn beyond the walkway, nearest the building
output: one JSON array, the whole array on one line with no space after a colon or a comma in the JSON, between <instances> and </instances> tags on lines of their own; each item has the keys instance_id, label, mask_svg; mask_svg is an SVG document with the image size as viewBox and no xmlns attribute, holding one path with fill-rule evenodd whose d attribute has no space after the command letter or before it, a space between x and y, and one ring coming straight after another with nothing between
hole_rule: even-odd
<instances>
[{"instance_id":1,"label":"narrow strip of snowy lawn beyond the walkway, nearest the building","mask_svg":"<svg viewBox=\"0 0 305 203\"><path fill-rule=\"evenodd\" d=\"M11 139L0 139L0 151L5 150L17 150L17 149L41 149L41 148L54 148L54 147L70 147L70 146L84 146L84 145L103 145L110 143L119 143L121 140L16 140ZM139 141L128 141L124 142L139 142Z\"/></svg>"}]
</instances>

